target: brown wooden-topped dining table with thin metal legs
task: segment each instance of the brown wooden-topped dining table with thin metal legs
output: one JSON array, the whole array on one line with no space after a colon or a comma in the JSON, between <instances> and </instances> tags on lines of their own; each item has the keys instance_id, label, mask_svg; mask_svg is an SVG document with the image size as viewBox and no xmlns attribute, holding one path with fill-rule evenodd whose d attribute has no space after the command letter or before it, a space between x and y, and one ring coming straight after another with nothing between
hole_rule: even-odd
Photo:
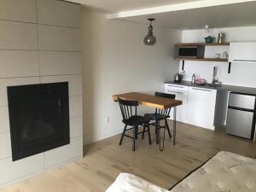
<instances>
[{"instance_id":1,"label":"brown wooden-topped dining table with thin metal legs","mask_svg":"<svg viewBox=\"0 0 256 192\"><path fill-rule=\"evenodd\" d=\"M173 145L176 144L176 114L177 114L177 106L183 104L182 101L175 99L168 99L160 96L152 96L148 94L143 94L139 92L129 92L122 93L112 96L113 101L117 102L118 98L124 100L137 101L140 105L149 108L160 108L160 109L168 109L173 108Z\"/></svg>"}]
</instances>

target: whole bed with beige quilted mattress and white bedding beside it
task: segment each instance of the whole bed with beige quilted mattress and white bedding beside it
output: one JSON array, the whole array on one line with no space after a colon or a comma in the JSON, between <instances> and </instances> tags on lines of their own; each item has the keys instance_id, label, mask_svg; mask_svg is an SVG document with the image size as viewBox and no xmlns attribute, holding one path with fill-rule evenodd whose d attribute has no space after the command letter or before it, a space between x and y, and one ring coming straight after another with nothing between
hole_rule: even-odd
<instances>
[{"instance_id":1,"label":"whole bed with beige quilted mattress and white bedding beside it","mask_svg":"<svg viewBox=\"0 0 256 192\"><path fill-rule=\"evenodd\" d=\"M166 192L144 179L121 173L107 192ZM219 152L177 183L171 192L256 192L256 160Z\"/></svg>"}]
</instances>

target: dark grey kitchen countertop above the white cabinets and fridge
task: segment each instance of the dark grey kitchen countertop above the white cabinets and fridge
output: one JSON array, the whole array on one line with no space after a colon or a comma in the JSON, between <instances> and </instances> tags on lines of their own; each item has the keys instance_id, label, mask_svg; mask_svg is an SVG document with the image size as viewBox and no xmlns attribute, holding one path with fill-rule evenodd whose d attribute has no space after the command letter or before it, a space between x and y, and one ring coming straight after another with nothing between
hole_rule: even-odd
<instances>
[{"instance_id":1,"label":"dark grey kitchen countertop above the white cabinets and fridge","mask_svg":"<svg viewBox=\"0 0 256 192\"><path fill-rule=\"evenodd\" d=\"M180 83L177 83L175 81L167 81L167 82L165 82L165 84L180 84L180 85L183 85L183 86L199 87L199 88L212 89L212 90L225 90L225 91L231 91L231 92L235 92L235 93L241 93L241 94L256 96L256 88L252 88L252 87L242 87L242 86L235 86L235 85L229 85L229 84L198 85L198 84L192 84L190 81L181 81Z\"/></svg>"}]
</instances>

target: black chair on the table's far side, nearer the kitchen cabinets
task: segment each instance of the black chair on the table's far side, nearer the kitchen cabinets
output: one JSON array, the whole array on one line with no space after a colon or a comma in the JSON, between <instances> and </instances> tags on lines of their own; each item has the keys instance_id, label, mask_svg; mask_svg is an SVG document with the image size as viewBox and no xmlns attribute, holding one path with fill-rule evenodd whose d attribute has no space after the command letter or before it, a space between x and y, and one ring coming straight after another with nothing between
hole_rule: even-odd
<instances>
[{"instance_id":1,"label":"black chair on the table's far side, nearer the kitchen cabinets","mask_svg":"<svg viewBox=\"0 0 256 192\"><path fill-rule=\"evenodd\" d=\"M165 97L168 99L175 99L175 95L173 94L166 94L166 93L160 93L160 92L155 92L154 96L160 96L160 97ZM166 130L168 131L168 135L170 138L172 138L172 134L167 122L167 118L170 118L170 112L171 112L171 108L167 108L167 109L159 109L159 108L155 108L155 112L154 113L146 113L145 117L150 118L151 120L154 120L154 123L151 123L149 125L154 125L155 127L155 134L156 134L156 143L160 143L160 129L164 128L164 139L165 139L165 134L166 134ZM160 125L160 121L161 120L165 120L165 125ZM144 137L144 133L143 133L143 137ZM162 148L160 147L160 150L162 151L164 149L164 140L163 140L163 145Z\"/></svg>"}]
</instances>

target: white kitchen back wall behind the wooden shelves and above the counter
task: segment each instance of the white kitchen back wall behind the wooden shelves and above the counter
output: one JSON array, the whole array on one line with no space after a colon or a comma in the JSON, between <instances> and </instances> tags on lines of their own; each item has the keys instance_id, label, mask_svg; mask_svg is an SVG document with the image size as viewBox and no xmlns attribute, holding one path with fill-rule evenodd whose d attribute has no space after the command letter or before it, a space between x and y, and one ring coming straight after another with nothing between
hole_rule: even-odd
<instances>
[{"instance_id":1,"label":"white kitchen back wall behind the wooden shelves and above the counter","mask_svg":"<svg viewBox=\"0 0 256 192\"><path fill-rule=\"evenodd\" d=\"M218 32L220 31L225 33L226 42L256 41L256 26L212 29L210 34L218 38ZM203 42L206 36L205 30L185 30L183 31L183 43ZM206 56L213 57L215 53L223 53L224 50L229 50L229 47L208 47ZM218 79L223 84L256 87L255 63L232 63L231 73L228 74L227 62L185 61L186 73L184 79L191 80L193 73L197 73L201 78L212 82L212 69L214 66L218 67Z\"/></svg>"}]
</instances>

